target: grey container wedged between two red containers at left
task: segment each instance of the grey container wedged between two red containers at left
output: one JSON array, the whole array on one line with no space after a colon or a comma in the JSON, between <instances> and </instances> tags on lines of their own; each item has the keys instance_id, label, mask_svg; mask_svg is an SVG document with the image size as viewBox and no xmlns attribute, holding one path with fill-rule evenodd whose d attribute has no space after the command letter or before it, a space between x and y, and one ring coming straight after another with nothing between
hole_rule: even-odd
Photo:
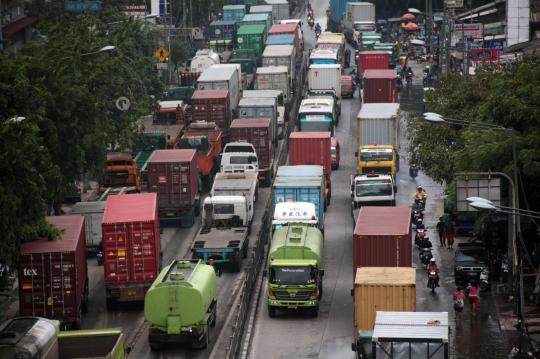
<instances>
[{"instance_id":1,"label":"grey container wedged between two red containers at left","mask_svg":"<svg viewBox=\"0 0 540 359\"><path fill-rule=\"evenodd\" d=\"M86 250L96 253L101 242L101 220L105 210L105 201L77 202L71 208L71 214L84 216L84 232L86 238Z\"/></svg>"}]
</instances>

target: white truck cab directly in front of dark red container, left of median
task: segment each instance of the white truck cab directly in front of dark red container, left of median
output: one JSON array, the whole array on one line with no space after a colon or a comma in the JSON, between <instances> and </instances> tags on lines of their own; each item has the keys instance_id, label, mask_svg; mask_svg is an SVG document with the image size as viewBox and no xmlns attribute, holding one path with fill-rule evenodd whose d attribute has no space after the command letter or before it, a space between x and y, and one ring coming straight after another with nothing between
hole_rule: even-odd
<instances>
[{"instance_id":1,"label":"white truck cab directly in front of dark red container, left of median","mask_svg":"<svg viewBox=\"0 0 540 359\"><path fill-rule=\"evenodd\" d=\"M247 142L229 142L221 154L220 172L241 173L259 171L255 146Z\"/></svg>"}]
</instances>

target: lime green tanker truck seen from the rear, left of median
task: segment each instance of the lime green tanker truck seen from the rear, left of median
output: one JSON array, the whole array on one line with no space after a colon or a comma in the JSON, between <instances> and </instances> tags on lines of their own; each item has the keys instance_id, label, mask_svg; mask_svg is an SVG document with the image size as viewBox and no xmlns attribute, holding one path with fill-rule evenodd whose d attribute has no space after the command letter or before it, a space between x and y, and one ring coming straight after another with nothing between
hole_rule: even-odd
<instances>
[{"instance_id":1,"label":"lime green tanker truck seen from the rear, left of median","mask_svg":"<svg viewBox=\"0 0 540 359\"><path fill-rule=\"evenodd\" d=\"M216 325L216 273L200 260L174 260L156 278L144 298L152 350L168 343L206 348Z\"/></svg>"}]
</instances>

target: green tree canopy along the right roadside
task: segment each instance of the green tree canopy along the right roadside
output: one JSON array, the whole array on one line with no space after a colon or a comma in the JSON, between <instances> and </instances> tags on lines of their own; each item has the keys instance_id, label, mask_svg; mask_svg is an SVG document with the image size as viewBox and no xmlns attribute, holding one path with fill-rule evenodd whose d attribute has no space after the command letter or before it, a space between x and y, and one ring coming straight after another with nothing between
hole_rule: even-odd
<instances>
[{"instance_id":1,"label":"green tree canopy along the right roadside","mask_svg":"<svg viewBox=\"0 0 540 359\"><path fill-rule=\"evenodd\" d=\"M427 111L446 118L512 128L516 134L522 202L538 210L540 199L540 58L499 66L486 64L475 76L449 75L428 95ZM409 121L411 161L438 182L458 171L513 175L512 143L503 131Z\"/></svg>"}]
</instances>

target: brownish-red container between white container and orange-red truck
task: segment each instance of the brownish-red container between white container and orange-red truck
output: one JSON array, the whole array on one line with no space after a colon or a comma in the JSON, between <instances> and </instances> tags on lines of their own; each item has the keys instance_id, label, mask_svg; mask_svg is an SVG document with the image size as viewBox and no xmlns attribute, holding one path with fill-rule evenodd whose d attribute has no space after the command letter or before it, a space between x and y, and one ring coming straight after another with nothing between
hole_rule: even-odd
<instances>
[{"instance_id":1,"label":"brownish-red container between white container and orange-red truck","mask_svg":"<svg viewBox=\"0 0 540 359\"><path fill-rule=\"evenodd\" d=\"M193 121L215 122L227 138L232 119L229 90L196 90L191 111Z\"/></svg>"}]
</instances>

